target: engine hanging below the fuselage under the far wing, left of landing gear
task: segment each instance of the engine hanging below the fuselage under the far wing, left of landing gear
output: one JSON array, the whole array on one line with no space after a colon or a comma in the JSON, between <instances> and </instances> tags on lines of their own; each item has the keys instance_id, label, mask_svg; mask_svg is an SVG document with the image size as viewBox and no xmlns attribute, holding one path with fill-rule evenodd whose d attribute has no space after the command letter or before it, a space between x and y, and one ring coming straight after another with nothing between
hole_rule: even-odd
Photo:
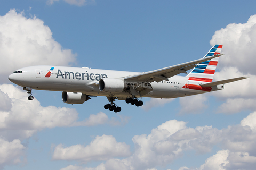
<instances>
[{"instance_id":1,"label":"engine hanging below the fuselage under the far wing, left of landing gear","mask_svg":"<svg viewBox=\"0 0 256 170\"><path fill-rule=\"evenodd\" d=\"M62 92L62 101L68 104L83 104L84 101L89 100L90 97L82 92Z\"/></svg>"}]
</instances>

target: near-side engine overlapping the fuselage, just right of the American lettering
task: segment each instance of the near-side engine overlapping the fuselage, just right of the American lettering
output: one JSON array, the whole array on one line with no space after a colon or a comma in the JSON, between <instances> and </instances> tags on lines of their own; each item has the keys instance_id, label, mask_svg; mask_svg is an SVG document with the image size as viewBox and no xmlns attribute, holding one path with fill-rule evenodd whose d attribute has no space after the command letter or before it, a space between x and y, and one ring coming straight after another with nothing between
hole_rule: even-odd
<instances>
[{"instance_id":1,"label":"near-side engine overlapping the fuselage, just right of the American lettering","mask_svg":"<svg viewBox=\"0 0 256 170\"><path fill-rule=\"evenodd\" d=\"M104 78L99 81L99 89L102 92L122 92L124 88L125 84L122 79Z\"/></svg>"}]
</instances>

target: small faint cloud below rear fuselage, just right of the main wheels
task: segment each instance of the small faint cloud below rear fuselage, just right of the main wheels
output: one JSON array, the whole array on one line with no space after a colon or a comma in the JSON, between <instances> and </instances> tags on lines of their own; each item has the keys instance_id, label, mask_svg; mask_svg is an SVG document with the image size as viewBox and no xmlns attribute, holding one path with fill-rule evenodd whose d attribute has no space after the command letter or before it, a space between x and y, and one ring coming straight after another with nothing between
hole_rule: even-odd
<instances>
[{"instance_id":1,"label":"small faint cloud below rear fuselage, just right of the main wheels","mask_svg":"<svg viewBox=\"0 0 256 170\"><path fill-rule=\"evenodd\" d=\"M172 102L174 99L160 99L160 98L150 98L149 101L146 101L145 104L141 106L145 111L149 111L153 107L161 107L166 103Z\"/></svg>"}]
</instances>

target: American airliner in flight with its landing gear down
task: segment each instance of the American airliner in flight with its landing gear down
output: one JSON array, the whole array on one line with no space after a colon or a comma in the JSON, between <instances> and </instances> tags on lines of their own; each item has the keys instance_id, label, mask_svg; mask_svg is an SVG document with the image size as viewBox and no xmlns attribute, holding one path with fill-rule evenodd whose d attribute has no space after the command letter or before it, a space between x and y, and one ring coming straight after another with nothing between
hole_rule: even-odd
<instances>
[{"instance_id":1,"label":"American airliner in flight with its landing gear down","mask_svg":"<svg viewBox=\"0 0 256 170\"><path fill-rule=\"evenodd\" d=\"M94 96L106 96L109 111L120 112L114 101L142 106L142 97L178 98L224 89L225 83L245 77L212 82L222 45L214 45L201 59L148 72L128 72L89 69L88 67L29 66L14 71L9 80L28 91L32 89L63 91L62 100L67 104L83 104ZM193 69L189 74L188 70ZM186 76L178 74L185 73Z\"/></svg>"}]
</instances>

